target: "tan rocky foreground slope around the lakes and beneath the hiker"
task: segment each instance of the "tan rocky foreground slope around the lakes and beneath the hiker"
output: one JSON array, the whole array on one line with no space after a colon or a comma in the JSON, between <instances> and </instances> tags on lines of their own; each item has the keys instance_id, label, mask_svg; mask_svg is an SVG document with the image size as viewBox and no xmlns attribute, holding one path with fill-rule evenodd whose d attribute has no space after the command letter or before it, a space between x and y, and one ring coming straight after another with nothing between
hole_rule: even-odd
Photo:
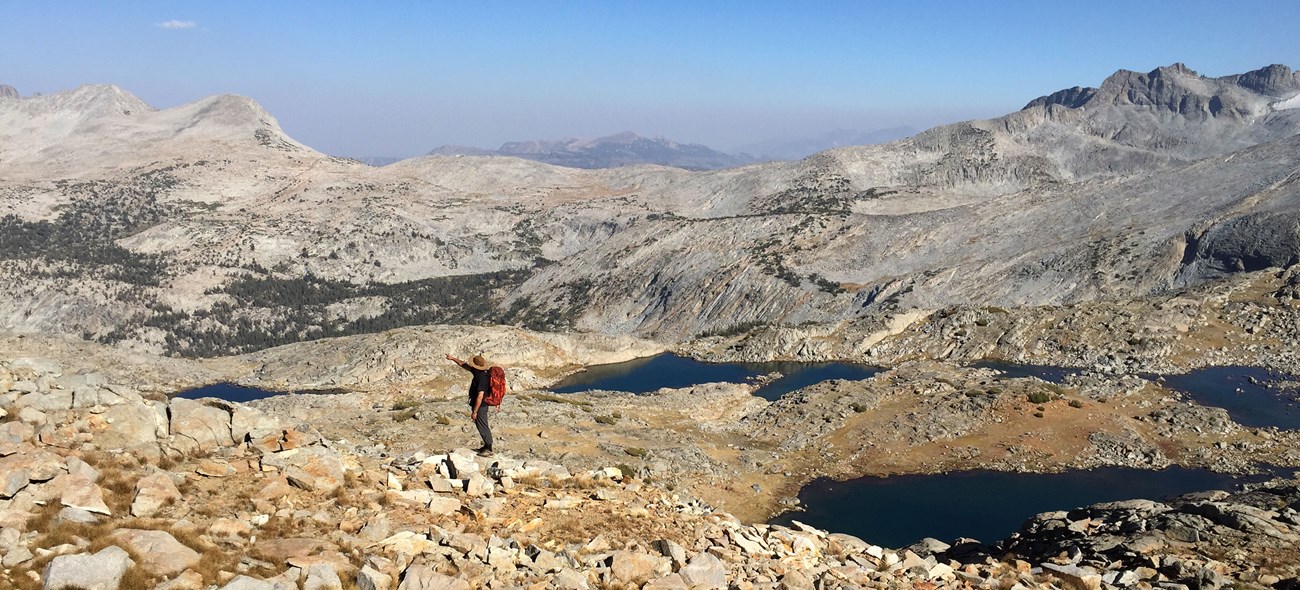
<instances>
[{"instance_id":1,"label":"tan rocky foreground slope around the lakes and beneath the hiker","mask_svg":"<svg viewBox=\"0 0 1300 590\"><path fill-rule=\"evenodd\" d=\"M1152 301L1154 309L1086 304L1052 320L1036 309L936 312L878 326L875 342L852 356L910 348L923 357L937 344L927 342L942 338L954 344L948 357L963 359L957 351L1002 339L954 330L972 326L1020 334L1017 340L1032 335L1037 344L1020 350L1034 361L1118 350L1112 339L1139 320L1169 327L1143 335L1153 342L1132 355L1136 363L1083 370L1065 389L930 359L776 403L753 398L753 385L642 396L555 396L521 386L495 420L503 452L490 459L458 450L473 433L460 416L460 389L446 377L460 377L460 386L463 377L447 363L430 364L438 356L430 348L486 346L520 386L654 346L450 327L192 361L8 337L0 346L3 580L51 590L1294 584L1294 480L1061 507L1008 539L910 547L764 525L753 511L811 477L857 474L836 470L845 467L1300 465L1296 433L1242 428L1131 374L1213 359L1218 347L1206 343L1214 340L1242 355L1266 344L1295 357L1296 324L1279 316L1295 304L1275 298L1288 286L1257 274L1182 301ZM996 314L1009 317L980 325ZM1069 318L1098 329L1061 325ZM862 342L844 334L792 338L809 344L806 357L836 357L837 342ZM753 350L772 337L727 348ZM304 381L313 373L316 381ZM211 379L355 390L254 404L161 395ZM1041 417L1026 402L1035 391L1057 396L1041 404Z\"/></svg>"}]
</instances>

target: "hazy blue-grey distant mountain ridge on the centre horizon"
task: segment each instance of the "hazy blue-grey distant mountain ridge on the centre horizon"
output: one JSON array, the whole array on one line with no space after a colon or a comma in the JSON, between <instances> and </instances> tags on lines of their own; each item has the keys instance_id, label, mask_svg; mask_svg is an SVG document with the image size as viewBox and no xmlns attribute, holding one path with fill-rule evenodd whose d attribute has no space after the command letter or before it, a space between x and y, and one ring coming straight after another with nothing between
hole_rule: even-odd
<instances>
[{"instance_id":1,"label":"hazy blue-grey distant mountain ridge on the centre horizon","mask_svg":"<svg viewBox=\"0 0 1300 590\"><path fill-rule=\"evenodd\" d=\"M620 168L641 164L715 170L753 164L749 156L733 156L698 143L677 143L664 138L644 138L632 131L595 139L507 142L499 149L442 146L430 156L511 156L568 168Z\"/></svg>"}]
</instances>

